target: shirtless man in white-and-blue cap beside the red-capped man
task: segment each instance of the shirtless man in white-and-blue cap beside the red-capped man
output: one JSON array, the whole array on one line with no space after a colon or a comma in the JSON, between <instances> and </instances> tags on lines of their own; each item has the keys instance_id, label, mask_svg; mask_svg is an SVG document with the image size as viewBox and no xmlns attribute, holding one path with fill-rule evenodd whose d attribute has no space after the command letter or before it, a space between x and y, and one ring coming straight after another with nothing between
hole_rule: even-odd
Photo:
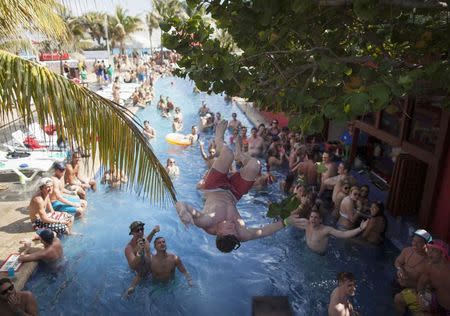
<instances>
[{"instance_id":1,"label":"shirtless man in white-and-blue cap beside the red-capped man","mask_svg":"<svg viewBox=\"0 0 450 316\"><path fill-rule=\"evenodd\" d=\"M427 265L427 244L433 240L431 235L424 229L416 230L413 234L412 246L402 250L395 259L397 268L397 282L404 288L394 297L397 312L405 308L411 291L417 287L419 278Z\"/></svg>"}]
</instances>

